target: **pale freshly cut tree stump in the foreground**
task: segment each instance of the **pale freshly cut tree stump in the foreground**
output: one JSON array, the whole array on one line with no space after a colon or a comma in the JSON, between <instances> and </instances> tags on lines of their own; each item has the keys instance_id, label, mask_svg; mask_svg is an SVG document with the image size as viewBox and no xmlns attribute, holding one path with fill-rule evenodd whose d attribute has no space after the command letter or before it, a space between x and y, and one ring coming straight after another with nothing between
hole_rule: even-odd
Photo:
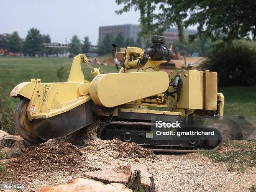
<instances>
[{"instance_id":1,"label":"pale freshly cut tree stump in the foreground","mask_svg":"<svg viewBox=\"0 0 256 192\"><path fill-rule=\"evenodd\" d=\"M67 184L46 186L36 192L155 192L153 175L146 165L122 166L118 169L89 172Z\"/></svg>"}]
</instances>

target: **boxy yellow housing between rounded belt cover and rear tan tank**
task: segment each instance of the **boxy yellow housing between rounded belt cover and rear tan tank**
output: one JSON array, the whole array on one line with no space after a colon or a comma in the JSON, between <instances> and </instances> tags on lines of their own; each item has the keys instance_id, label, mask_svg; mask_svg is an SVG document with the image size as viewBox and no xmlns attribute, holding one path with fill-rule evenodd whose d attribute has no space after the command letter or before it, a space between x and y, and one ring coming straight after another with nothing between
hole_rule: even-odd
<instances>
[{"instance_id":1,"label":"boxy yellow housing between rounded belt cover and rear tan tank","mask_svg":"<svg viewBox=\"0 0 256 192\"><path fill-rule=\"evenodd\" d=\"M170 79L174 77L175 73L170 74ZM203 104L203 74L202 71L185 70L181 73L183 86L181 90L180 100L175 97L168 97L170 108L179 109L202 109ZM169 91L174 91L173 87Z\"/></svg>"}]
</instances>

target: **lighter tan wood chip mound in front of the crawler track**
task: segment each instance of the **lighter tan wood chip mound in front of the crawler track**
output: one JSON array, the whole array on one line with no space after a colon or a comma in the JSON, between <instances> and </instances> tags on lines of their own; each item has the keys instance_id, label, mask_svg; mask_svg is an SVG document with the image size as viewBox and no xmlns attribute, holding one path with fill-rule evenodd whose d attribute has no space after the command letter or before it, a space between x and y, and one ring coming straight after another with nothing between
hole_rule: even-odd
<instances>
[{"instance_id":1,"label":"lighter tan wood chip mound in front of the crawler track","mask_svg":"<svg viewBox=\"0 0 256 192\"><path fill-rule=\"evenodd\" d=\"M136 143L122 142L119 139L100 140L88 142L82 149L86 154L110 154L114 159L120 157L156 159L156 155L152 150L142 148Z\"/></svg>"}]
</instances>

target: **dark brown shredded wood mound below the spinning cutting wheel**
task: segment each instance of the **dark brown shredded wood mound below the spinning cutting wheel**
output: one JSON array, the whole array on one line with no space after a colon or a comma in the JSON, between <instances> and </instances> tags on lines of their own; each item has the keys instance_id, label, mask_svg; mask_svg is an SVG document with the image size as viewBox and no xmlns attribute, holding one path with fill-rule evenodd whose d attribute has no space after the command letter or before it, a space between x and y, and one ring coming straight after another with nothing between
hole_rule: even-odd
<instances>
[{"instance_id":1,"label":"dark brown shredded wood mound below the spinning cutting wheel","mask_svg":"<svg viewBox=\"0 0 256 192\"><path fill-rule=\"evenodd\" d=\"M14 179L18 179L20 174L30 175L43 172L74 172L82 166L82 152L70 143L47 146L44 144L31 146L20 157L5 164L8 172L13 172ZM17 175L17 173L19 173Z\"/></svg>"}]
</instances>

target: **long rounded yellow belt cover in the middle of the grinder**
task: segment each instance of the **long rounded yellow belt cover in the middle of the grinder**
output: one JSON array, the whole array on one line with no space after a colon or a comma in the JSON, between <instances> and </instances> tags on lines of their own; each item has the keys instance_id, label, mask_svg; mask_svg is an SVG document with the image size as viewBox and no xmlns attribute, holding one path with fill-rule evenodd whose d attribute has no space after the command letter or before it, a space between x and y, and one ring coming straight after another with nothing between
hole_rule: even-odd
<instances>
[{"instance_id":1,"label":"long rounded yellow belt cover in the middle of the grinder","mask_svg":"<svg viewBox=\"0 0 256 192\"><path fill-rule=\"evenodd\" d=\"M96 105L111 108L164 92L168 86L166 72L113 73L96 76L89 92Z\"/></svg>"}]
</instances>

